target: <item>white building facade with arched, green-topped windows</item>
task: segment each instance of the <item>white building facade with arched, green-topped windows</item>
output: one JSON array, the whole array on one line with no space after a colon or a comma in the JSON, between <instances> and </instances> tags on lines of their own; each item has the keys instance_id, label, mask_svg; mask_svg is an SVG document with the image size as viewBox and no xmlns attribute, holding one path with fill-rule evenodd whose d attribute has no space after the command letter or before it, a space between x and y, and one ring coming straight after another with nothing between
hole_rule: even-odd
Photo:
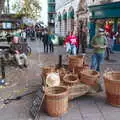
<instances>
[{"instance_id":1,"label":"white building facade with arched, green-topped windows","mask_svg":"<svg viewBox=\"0 0 120 120\"><path fill-rule=\"evenodd\" d=\"M79 0L56 1L55 33L66 36L69 31L75 30L78 5Z\"/></svg>"}]
</instances>

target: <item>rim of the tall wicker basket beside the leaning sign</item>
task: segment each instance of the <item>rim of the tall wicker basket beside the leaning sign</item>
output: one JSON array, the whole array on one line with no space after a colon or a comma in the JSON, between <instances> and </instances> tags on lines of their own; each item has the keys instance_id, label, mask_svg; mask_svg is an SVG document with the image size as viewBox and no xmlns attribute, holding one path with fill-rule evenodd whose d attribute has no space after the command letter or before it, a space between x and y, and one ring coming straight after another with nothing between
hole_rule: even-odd
<instances>
[{"instance_id":1,"label":"rim of the tall wicker basket beside the leaning sign","mask_svg":"<svg viewBox=\"0 0 120 120\"><path fill-rule=\"evenodd\" d=\"M62 93L59 93L59 94L53 94L53 93L48 93L48 90L49 89L52 89L52 88L63 88L65 91L64 92L62 92ZM65 95L66 93L68 93L68 88L67 87L65 87L65 86L54 86L54 87L47 87L47 88L45 88L45 94L47 95L47 96L63 96L63 95Z\"/></svg>"}]
</instances>

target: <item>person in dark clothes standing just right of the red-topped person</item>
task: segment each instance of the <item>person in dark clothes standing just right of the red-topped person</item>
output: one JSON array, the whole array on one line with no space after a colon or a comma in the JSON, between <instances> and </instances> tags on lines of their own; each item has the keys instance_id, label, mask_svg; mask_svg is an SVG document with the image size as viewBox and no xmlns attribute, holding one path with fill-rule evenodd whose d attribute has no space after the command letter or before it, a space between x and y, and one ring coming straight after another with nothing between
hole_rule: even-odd
<instances>
[{"instance_id":1,"label":"person in dark clothes standing just right of the red-topped person","mask_svg":"<svg viewBox=\"0 0 120 120\"><path fill-rule=\"evenodd\" d=\"M82 28L81 33L81 51L82 53L86 53L87 48L87 29L85 27Z\"/></svg>"}]
</instances>

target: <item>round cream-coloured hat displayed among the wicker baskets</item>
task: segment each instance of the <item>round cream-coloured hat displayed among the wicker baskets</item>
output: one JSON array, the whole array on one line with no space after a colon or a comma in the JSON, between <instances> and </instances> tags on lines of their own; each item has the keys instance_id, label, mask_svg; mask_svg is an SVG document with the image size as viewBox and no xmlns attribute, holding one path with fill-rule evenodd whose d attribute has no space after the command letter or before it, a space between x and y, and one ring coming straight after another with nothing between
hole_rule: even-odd
<instances>
[{"instance_id":1,"label":"round cream-coloured hat displayed among the wicker baskets","mask_svg":"<svg viewBox=\"0 0 120 120\"><path fill-rule=\"evenodd\" d=\"M59 86L60 85L60 76L58 73L49 73L46 77L46 84L49 87Z\"/></svg>"}]
</instances>

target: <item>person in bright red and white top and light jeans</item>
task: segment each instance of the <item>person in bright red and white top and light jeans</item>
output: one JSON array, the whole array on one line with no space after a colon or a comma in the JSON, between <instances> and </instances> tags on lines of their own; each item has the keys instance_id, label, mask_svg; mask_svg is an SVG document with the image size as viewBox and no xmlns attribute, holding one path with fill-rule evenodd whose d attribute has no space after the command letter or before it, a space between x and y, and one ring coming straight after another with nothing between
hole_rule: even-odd
<instances>
[{"instance_id":1,"label":"person in bright red and white top and light jeans","mask_svg":"<svg viewBox=\"0 0 120 120\"><path fill-rule=\"evenodd\" d=\"M76 55L79 42L78 42L78 38L75 36L75 32L71 31L67 39L71 46L71 54Z\"/></svg>"}]
</instances>

